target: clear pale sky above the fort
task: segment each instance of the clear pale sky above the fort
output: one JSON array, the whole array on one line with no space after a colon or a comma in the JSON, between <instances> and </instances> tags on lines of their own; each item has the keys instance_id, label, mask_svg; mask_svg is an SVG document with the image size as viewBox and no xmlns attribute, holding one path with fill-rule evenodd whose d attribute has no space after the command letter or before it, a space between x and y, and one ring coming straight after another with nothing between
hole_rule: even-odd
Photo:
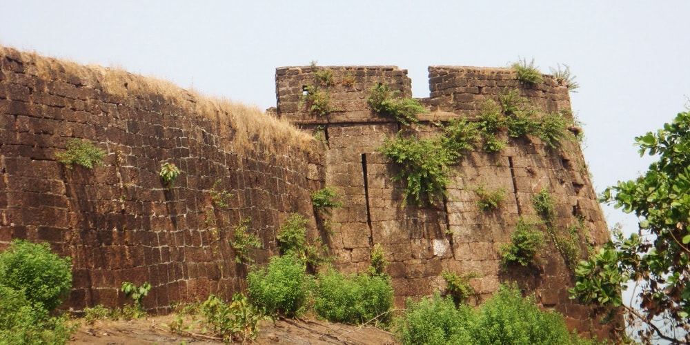
<instances>
[{"instance_id":1,"label":"clear pale sky above the fort","mask_svg":"<svg viewBox=\"0 0 690 345\"><path fill-rule=\"evenodd\" d=\"M595 188L647 169L633 137L688 103L690 1L0 0L0 45L116 66L259 108L275 68L395 65L428 97L429 65L566 63ZM609 225L635 220L604 208Z\"/></svg>"}]
</instances>

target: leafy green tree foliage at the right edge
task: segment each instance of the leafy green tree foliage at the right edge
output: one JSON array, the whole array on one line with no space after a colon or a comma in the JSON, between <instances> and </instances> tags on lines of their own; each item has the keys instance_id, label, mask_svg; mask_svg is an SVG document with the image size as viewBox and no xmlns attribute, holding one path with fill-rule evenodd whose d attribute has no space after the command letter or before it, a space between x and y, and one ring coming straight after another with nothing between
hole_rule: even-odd
<instances>
[{"instance_id":1,"label":"leafy green tree foliage at the right edge","mask_svg":"<svg viewBox=\"0 0 690 345\"><path fill-rule=\"evenodd\" d=\"M627 239L618 235L578 268L573 297L583 302L618 306L629 279L640 282L638 317L652 333L671 341L669 333L684 329L690 341L690 112L681 112L658 132L635 138L640 156L657 157L644 175L619 181L602 193L601 201L634 213L639 231ZM635 313L632 309L631 312ZM651 324L662 317L663 328ZM664 334L666 333L666 334Z\"/></svg>"}]
</instances>

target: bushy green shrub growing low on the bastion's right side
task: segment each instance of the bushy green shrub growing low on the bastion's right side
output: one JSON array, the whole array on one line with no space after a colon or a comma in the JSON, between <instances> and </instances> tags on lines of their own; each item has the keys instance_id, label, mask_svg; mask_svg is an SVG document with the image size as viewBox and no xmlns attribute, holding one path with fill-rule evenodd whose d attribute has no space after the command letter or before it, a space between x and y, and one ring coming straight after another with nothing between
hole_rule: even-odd
<instances>
[{"instance_id":1,"label":"bushy green shrub growing low on the bastion's right side","mask_svg":"<svg viewBox=\"0 0 690 345\"><path fill-rule=\"evenodd\" d=\"M511 235L511 243L500 248L502 262L504 265L537 266L540 264L539 252L544 244L544 233L520 217Z\"/></svg>"}]
</instances>

